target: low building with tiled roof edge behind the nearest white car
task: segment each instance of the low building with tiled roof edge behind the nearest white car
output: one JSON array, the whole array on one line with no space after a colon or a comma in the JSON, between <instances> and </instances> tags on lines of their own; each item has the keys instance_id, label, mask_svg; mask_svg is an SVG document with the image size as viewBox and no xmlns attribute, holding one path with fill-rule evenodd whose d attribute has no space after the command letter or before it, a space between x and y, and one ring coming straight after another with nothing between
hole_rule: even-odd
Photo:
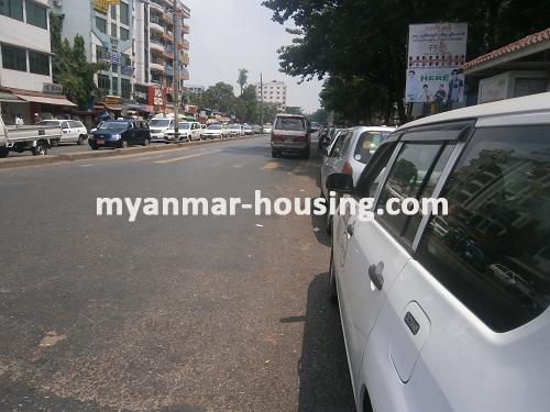
<instances>
[{"instance_id":1,"label":"low building with tiled roof edge behind the nearest white car","mask_svg":"<svg viewBox=\"0 0 550 412\"><path fill-rule=\"evenodd\" d=\"M469 105L550 91L550 27L462 66Z\"/></svg>"}]
</instances>

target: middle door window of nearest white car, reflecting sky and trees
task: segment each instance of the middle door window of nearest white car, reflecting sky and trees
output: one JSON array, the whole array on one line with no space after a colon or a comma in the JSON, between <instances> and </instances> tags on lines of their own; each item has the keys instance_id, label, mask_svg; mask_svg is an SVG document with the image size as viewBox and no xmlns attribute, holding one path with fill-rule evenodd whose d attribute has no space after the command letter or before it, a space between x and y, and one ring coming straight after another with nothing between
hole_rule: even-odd
<instances>
[{"instance_id":1,"label":"middle door window of nearest white car, reflecting sky and trees","mask_svg":"<svg viewBox=\"0 0 550 412\"><path fill-rule=\"evenodd\" d=\"M429 198L451 156L454 145L438 143L406 142L395 163L392 165L384 189L381 192L377 208L384 208L387 200L397 198ZM396 208L396 205L394 205ZM416 219L413 219L416 218ZM399 237L409 244L420 224L420 216L384 214L380 220Z\"/></svg>"}]
</instances>

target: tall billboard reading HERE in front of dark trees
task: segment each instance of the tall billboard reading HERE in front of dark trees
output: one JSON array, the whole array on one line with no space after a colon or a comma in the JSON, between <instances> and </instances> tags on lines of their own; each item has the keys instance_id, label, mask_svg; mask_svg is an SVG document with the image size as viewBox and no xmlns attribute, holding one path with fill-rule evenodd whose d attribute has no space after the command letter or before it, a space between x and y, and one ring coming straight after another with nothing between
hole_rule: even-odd
<instances>
[{"instance_id":1,"label":"tall billboard reading HERE in front of dark trees","mask_svg":"<svg viewBox=\"0 0 550 412\"><path fill-rule=\"evenodd\" d=\"M454 107L464 100L468 23L409 25L406 103Z\"/></svg>"}]
</instances>

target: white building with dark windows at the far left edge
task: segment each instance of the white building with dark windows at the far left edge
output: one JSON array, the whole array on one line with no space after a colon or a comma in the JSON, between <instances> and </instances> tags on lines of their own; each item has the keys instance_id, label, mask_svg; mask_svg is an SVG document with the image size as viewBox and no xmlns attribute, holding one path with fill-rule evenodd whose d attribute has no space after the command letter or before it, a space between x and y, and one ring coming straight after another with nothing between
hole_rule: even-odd
<instances>
[{"instance_id":1,"label":"white building with dark windows at the far left edge","mask_svg":"<svg viewBox=\"0 0 550 412\"><path fill-rule=\"evenodd\" d=\"M0 1L0 103L4 122L48 118L76 104L52 81L47 0Z\"/></svg>"}]
</instances>

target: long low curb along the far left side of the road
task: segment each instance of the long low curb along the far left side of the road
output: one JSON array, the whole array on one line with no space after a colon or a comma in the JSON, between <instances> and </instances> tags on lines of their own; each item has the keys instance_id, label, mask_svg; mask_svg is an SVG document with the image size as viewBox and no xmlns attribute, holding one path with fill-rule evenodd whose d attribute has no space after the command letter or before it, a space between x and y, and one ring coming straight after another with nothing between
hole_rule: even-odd
<instances>
[{"instance_id":1,"label":"long low curb along the far left side of the road","mask_svg":"<svg viewBox=\"0 0 550 412\"><path fill-rule=\"evenodd\" d=\"M118 157L118 156L123 157L138 153L175 151L182 147L202 146L222 142L244 141L254 137L255 135L230 137L226 140L219 138L213 141L197 141L190 143L172 143L165 145L136 146L129 148L100 149L100 151L90 149L88 152L59 153L58 155L11 157L11 158L8 157L0 160L0 169L11 169L24 166L52 165L55 163L66 163L66 162L86 160L86 159L96 159L106 157Z\"/></svg>"}]
</instances>

